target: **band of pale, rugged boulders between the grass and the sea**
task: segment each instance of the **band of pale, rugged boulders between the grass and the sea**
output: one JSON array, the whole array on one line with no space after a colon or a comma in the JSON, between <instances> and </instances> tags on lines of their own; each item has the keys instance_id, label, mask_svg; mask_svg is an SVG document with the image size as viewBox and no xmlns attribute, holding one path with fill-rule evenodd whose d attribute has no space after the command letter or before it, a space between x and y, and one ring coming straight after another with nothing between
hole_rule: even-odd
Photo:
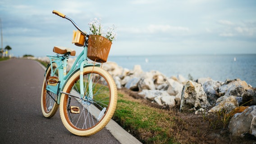
<instances>
[{"instance_id":1,"label":"band of pale, rugged boulders between the grass and the sea","mask_svg":"<svg viewBox=\"0 0 256 144\"><path fill-rule=\"evenodd\" d=\"M40 59L47 61L47 58ZM69 67L74 62L69 59ZM107 62L102 66L110 72L118 89L126 88L165 108L179 108L195 114L224 112L232 117L229 132L232 136L250 135L256 139L256 88L239 78L215 81L210 77L195 81L185 77L167 77L159 71L143 72L140 65L133 70Z\"/></svg>"}]
</instances>

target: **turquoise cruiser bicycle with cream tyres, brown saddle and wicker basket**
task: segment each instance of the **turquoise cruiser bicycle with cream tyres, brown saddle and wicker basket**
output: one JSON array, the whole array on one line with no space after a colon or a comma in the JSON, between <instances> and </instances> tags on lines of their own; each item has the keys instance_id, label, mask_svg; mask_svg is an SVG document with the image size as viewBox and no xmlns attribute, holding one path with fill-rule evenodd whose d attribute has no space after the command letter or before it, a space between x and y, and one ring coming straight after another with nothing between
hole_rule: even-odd
<instances>
[{"instance_id":1,"label":"turquoise cruiser bicycle with cream tyres, brown saddle and wicker basket","mask_svg":"<svg viewBox=\"0 0 256 144\"><path fill-rule=\"evenodd\" d=\"M42 113L50 118L59 108L61 120L71 133L93 135L107 125L116 108L114 79L101 68L109 52L106 52L106 45L111 46L112 43L103 37L88 35L71 18L58 11L53 10L53 14L68 19L78 29L73 32L72 43L83 46L83 51L69 72L66 71L67 60L75 56L75 50L55 46L53 51L56 55L47 55L50 63L42 86ZM88 63L88 58L94 63Z\"/></svg>"}]
</instances>

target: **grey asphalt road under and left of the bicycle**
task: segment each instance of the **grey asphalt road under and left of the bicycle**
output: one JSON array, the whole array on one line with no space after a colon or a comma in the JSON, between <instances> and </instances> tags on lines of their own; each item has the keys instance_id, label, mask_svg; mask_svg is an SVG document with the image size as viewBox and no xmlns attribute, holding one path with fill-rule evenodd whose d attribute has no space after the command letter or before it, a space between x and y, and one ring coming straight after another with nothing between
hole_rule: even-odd
<instances>
[{"instance_id":1,"label":"grey asphalt road under and left of the bicycle","mask_svg":"<svg viewBox=\"0 0 256 144\"><path fill-rule=\"evenodd\" d=\"M43 79L44 70L34 60L0 61L0 144L119 144L106 128L89 137L71 134L59 111L45 118Z\"/></svg>"}]
</instances>

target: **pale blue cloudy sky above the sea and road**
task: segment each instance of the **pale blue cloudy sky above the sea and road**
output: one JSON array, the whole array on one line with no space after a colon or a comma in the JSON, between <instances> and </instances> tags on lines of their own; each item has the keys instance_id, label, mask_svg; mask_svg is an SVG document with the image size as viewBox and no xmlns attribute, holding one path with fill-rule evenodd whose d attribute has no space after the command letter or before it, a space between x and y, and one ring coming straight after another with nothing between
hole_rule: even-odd
<instances>
[{"instance_id":1,"label":"pale blue cloudy sky above the sea and road","mask_svg":"<svg viewBox=\"0 0 256 144\"><path fill-rule=\"evenodd\" d=\"M3 47L13 56L75 49L75 27L83 31L101 18L117 27L110 56L256 54L256 0L0 0Z\"/></svg>"}]
</instances>

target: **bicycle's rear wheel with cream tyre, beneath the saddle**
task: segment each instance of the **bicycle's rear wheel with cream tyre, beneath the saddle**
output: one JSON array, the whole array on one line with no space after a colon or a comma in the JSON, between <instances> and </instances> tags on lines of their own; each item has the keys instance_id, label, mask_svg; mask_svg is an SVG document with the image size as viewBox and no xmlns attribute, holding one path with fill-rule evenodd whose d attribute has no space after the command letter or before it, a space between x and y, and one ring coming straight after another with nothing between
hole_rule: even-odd
<instances>
[{"instance_id":1,"label":"bicycle's rear wheel with cream tyre, beneath the saddle","mask_svg":"<svg viewBox=\"0 0 256 144\"><path fill-rule=\"evenodd\" d=\"M52 63L53 71L57 68L56 63ZM55 77L58 76L59 71L55 73ZM44 117L50 118L55 115L59 108L59 104L57 104L55 101L57 101L57 94L54 94L50 92L49 90L46 90L47 82L49 80L51 74L51 68L49 67L46 71L45 80L43 82L42 86L42 93L41 93L41 109Z\"/></svg>"}]
</instances>

